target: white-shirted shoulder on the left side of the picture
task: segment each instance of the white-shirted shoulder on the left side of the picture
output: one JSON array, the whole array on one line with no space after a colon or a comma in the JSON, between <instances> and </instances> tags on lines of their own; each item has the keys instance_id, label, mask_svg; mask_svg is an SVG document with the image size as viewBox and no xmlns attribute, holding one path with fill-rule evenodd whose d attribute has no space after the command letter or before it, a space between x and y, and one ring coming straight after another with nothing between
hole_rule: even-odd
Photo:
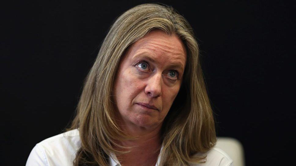
<instances>
[{"instance_id":1,"label":"white-shirted shoulder on the left side of the picture","mask_svg":"<svg viewBox=\"0 0 296 166\"><path fill-rule=\"evenodd\" d=\"M80 146L78 129L52 136L35 145L26 165L73 165Z\"/></svg>"}]
</instances>

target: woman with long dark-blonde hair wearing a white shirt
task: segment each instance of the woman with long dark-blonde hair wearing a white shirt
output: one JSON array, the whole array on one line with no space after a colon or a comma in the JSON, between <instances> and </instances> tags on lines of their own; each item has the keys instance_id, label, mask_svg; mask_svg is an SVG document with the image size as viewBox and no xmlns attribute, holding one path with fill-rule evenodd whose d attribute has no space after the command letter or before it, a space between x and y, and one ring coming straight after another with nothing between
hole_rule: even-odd
<instances>
[{"instance_id":1,"label":"woman with long dark-blonde hair wearing a white shirt","mask_svg":"<svg viewBox=\"0 0 296 166\"><path fill-rule=\"evenodd\" d=\"M189 23L138 5L107 34L72 127L38 143L27 165L231 165L212 114Z\"/></svg>"}]
</instances>

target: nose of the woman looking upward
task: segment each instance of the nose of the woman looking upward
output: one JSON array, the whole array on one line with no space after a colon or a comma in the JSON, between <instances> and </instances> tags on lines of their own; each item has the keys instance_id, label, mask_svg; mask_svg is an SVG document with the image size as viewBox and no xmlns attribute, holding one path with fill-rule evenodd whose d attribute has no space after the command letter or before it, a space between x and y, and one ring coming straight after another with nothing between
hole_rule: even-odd
<instances>
[{"instance_id":1,"label":"nose of the woman looking upward","mask_svg":"<svg viewBox=\"0 0 296 166\"><path fill-rule=\"evenodd\" d=\"M161 83L162 76L160 74L154 74L147 80L147 85L145 87L145 94L150 97L160 97L161 96Z\"/></svg>"}]
</instances>

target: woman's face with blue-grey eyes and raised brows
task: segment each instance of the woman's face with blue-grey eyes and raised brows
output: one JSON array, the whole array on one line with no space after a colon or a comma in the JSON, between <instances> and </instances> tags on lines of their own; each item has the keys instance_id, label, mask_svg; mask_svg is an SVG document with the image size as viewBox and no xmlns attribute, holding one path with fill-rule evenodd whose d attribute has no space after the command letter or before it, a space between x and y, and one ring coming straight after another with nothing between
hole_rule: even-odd
<instances>
[{"instance_id":1,"label":"woman's face with blue-grey eyes and raised brows","mask_svg":"<svg viewBox=\"0 0 296 166\"><path fill-rule=\"evenodd\" d=\"M114 100L121 125L161 126L176 98L186 64L186 48L176 35L152 30L132 44L118 68Z\"/></svg>"}]
</instances>

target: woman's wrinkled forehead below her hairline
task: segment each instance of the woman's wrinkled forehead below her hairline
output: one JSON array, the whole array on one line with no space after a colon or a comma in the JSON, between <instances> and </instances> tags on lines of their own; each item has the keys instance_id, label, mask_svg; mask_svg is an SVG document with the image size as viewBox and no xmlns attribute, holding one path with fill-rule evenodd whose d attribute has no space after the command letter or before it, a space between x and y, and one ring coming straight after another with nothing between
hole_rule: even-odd
<instances>
[{"instance_id":1,"label":"woman's wrinkled forehead below her hairline","mask_svg":"<svg viewBox=\"0 0 296 166\"><path fill-rule=\"evenodd\" d=\"M161 64L180 65L185 68L186 48L175 34L168 35L162 30L152 30L136 41L127 51L131 59L147 57Z\"/></svg>"}]
</instances>

